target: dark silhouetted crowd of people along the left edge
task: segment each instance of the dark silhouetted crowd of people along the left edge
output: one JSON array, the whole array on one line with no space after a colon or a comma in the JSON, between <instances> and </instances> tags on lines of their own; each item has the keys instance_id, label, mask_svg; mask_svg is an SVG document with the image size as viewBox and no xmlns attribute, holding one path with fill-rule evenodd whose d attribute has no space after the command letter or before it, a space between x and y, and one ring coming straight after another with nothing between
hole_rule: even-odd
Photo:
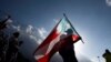
<instances>
[{"instance_id":1,"label":"dark silhouetted crowd of people along the left edge","mask_svg":"<svg viewBox=\"0 0 111 62\"><path fill-rule=\"evenodd\" d=\"M20 45L23 43L18 40L20 32L13 32L11 35L4 32L9 19L10 16L0 20L0 62L29 62L19 52Z\"/></svg>"}]
</instances>

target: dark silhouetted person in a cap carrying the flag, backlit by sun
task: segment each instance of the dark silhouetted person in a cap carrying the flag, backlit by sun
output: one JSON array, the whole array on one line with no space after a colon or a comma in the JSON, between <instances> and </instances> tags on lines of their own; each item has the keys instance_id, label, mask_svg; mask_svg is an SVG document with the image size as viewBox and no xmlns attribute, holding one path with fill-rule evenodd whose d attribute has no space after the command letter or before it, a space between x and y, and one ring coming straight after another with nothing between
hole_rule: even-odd
<instances>
[{"instance_id":1,"label":"dark silhouetted person in a cap carrying the flag, backlit by sun","mask_svg":"<svg viewBox=\"0 0 111 62\"><path fill-rule=\"evenodd\" d=\"M69 37L73 34L73 31L72 29L68 29L65 33L67 34L62 34L60 38L63 39L65 37ZM63 62L78 62L75 58L73 41L69 38L68 40L65 40L65 42L67 44L59 50L59 54L62 56Z\"/></svg>"}]
</instances>

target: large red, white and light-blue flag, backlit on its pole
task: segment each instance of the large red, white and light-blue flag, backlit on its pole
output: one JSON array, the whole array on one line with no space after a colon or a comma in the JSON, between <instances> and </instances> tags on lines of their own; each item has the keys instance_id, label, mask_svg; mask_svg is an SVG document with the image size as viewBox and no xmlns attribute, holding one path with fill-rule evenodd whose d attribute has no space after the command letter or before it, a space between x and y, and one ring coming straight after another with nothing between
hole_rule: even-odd
<instances>
[{"instance_id":1,"label":"large red, white and light-blue flag, backlit on its pole","mask_svg":"<svg viewBox=\"0 0 111 62\"><path fill-rule=\"evenodd\" d=\"M68 20L65 14L63 14L63 19L61 19L57 25L53 28L51 33L47 37L47 39L37 48L34 52L34 58L37 62L49 62L51 56L62 48L63 42L62 40L67 40L69 37L73 39L73 43L78 40L81 40L81 37L72 27L71 22ZM67 33L68 30L73 31L70 35ZM70 32L70 31L69 31ZM61 35L63 35L61 38ZM68 38L67 38L68 37Z\"/></svg>"}]
</instances>

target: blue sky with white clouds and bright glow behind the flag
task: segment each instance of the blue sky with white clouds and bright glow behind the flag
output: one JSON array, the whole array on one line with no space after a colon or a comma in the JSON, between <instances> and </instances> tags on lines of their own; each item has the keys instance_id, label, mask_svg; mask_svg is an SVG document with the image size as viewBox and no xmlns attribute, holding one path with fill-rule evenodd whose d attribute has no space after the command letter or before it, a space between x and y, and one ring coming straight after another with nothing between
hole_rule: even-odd
<instances>
[{"instance_id":1,"label":"blue sky with white clouds and bright glow behind the flag","mask_svg":"<svg viewBox=\"0 0 111 62\"><path fill-rule=\"evenodd\" d=\"M104 50L111 51L111 0L0 0L0 17L6 13L13 20L11 27L36 43L41 43L65 13L84 41L75 43L77 54L92 62L100 56L103 62Z\"/></svg>"}]
</instances>

